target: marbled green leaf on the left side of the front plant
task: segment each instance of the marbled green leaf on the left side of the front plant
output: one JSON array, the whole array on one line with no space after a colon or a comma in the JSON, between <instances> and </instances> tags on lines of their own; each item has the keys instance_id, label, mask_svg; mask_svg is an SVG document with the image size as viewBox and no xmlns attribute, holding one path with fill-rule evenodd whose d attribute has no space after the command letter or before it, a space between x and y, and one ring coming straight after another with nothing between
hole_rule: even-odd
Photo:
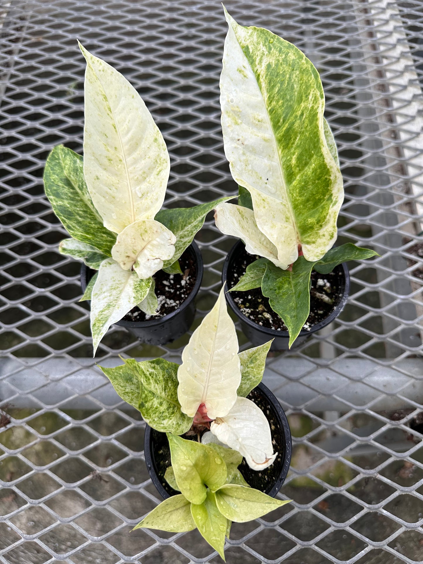
<instances>
[{"instance_id":1,"label":"marbled green leaf on the left side of the front plant","mask_svg":"<svg viewBox=\"0 0 423 564\"><path fill-rule=\"evenodd\" d=\"M178 402L178 364L163 358L136 362L124 359L116 368L100 367L125 402L139 409L144 420L156 431L177 435L186 433L192 418L180 411Z\"/></svg>"}]
</instances>

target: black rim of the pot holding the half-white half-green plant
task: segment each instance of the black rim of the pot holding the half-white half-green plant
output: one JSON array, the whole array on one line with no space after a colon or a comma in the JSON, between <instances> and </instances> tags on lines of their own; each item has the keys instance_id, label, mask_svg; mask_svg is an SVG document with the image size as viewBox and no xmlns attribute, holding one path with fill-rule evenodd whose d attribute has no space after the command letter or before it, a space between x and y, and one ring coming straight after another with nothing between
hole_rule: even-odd
<instances>
[{"instance_id":1,"label":"black rim of the pot holding the half-white half-green plant","mask_svg":"<svg viewBox=\"0 0 423 564\"><path fill-rule=\"evenodd\" d=\"M231 259L232 259L233 255L237 252L237 249L240 246L244 247L245 245L244 245L243 241L241 241L239 239L232 246L232 249L227 254L226 259L224 260L224 263L223 263L222 285L224 285L224 287L225 287L225 294L224 295L226 297L226 301L228 302L228 305L231 307L231 310L235 313L237 318L240 319L240 321L243 321L244 323L246 323L247 325L249 325L253 329L256 329L257 331L260 331L262 333L266 333L266 334L270 335L271 337L289 338L289 332L288 331L277 331L276 329L271 329L270 327L263 327L262 325L255 323L255 321L253 321L250 318L246 317L245 315L241 314L239 307L236 305L236 303L235 303L235 301L234 301L234 299L231 295L231 292L229 291L228 282L227 282L227 272L228 272L228 268L229 268ZM307 335L310 335L311 333L315 333L316 331L320 331L320 329L323 329L324 327L329 325L329 323L332 323L332 321L334 319L336 319L338 317L338 315L340 315L341 311L344 309L345 304L347 303L349 292L350 292L350 273L348 271L348 267L347 267L345 262L341 263L340 266L342 267L342 272L343 272L344 279L345 279L345 284L344 284L344 288L343 288L343 292L342 292L342 296L340 298L340 301L337 303L335 309L327 316L327 318L319 321L319 323L316 323L315 325L312 325L312 327L310 327L309 330L301 329L301 331L298 334L298 337L306 337Z\"/></svg>"}]
</instances>

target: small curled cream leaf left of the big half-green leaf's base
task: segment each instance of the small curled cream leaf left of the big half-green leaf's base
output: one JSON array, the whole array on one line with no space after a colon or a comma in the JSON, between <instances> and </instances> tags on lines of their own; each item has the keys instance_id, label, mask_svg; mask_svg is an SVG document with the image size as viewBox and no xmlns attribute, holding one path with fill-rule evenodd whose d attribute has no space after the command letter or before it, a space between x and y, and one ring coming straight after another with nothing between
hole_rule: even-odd
<instances>
[{"instance_id":1,"label":"small curled cream leaf left of the big half-green leaf's base","mask_svg":"<svg viewBox=\"0 0 423 564\"><path fill-rule=\"evenodd\" d=\"M214 219L219 231L242 239L248 253L259 254L283 268L283 263L277 259L275 245L257 227L253 210L235 204L219 204Z\"/></svg>"}]
</instances>

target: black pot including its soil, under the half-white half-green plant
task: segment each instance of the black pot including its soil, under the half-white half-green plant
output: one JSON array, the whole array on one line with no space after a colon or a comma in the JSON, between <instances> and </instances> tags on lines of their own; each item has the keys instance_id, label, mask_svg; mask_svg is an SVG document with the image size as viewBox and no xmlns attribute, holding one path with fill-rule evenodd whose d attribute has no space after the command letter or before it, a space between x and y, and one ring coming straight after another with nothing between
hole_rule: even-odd
<instances>
[{"instance_id":1,"label":"black pot including its soil, under the half-white half-green plant","mask_svg":"<svg viewBox=\"0 0 423 564\"><path fill-rule=\"evenodd\" d=\"M288 350L289 333L283 320L270 307L261 288L246 292L228 292L245 274L246 267L259 257L245 250L242 241L237 241L228 253L222 269L222 284L225 284L226 301L239 318L241 328L254 346L274 339L271 351ZM340 315L350 290L350 275L345 263L330 274L311 272L310 315L301 329L291 350L301 345L312 333L323 329ZM327 301L319 298L323 294ZM328 303L329 302L329 303ZM332 303L330 303L332 302Z\"/></svg>"}]
</instances>

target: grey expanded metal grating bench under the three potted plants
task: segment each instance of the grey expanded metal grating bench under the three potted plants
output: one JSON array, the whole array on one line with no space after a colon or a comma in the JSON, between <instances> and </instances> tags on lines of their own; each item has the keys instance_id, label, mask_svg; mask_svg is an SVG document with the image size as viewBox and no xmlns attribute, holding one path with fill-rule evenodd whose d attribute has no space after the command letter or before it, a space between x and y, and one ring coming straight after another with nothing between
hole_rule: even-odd
<instances>
[{"instance_id":1,"label":"grey expanded metal grating bench under the three potted plants","mask_svg":"<svg viewBox=\"0 0 423 564\"><path fill-rule=\"evenodd\" d=\"M217 0L0 3L0 561L221 562L196 531L131 528L158 503L144 424L91 359L80 265L43 195L58 143L81 151L84 64L76 38L138 89L171 155L167 206L235 194L223 155ZM321 74L346 198L340 241L381 257L351 263L340 318L268 359L289 416L292 504L232 526L230 564L423 561L423 8L416 1L227 0L244 25L305 51ZM210 217L196 325L233 240ZM195 325L195 326L196 326ZM245 337L239 333L243 347ZM144 346L116 326L97 362L179 360L188 336Z\"/></svg>"}]
</instances>

